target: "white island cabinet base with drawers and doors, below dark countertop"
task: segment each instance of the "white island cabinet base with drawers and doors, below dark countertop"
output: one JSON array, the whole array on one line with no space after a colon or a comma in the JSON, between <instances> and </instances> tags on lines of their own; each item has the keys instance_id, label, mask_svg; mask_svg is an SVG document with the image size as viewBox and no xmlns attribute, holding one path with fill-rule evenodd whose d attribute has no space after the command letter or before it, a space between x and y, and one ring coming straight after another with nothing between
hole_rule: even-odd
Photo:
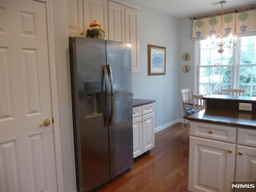
<instances>
[{"instance_id":1,"label":"white island cabinet base with drawers and doors, below dark countertop","mask_svg":"<svg viewBox=\"0 0 256 192\"><path fill-rule=\"evenodd\" d=\"M228 192L256 180L256 130L190 122L188 190Z\"/></svg>"}]
</instances>

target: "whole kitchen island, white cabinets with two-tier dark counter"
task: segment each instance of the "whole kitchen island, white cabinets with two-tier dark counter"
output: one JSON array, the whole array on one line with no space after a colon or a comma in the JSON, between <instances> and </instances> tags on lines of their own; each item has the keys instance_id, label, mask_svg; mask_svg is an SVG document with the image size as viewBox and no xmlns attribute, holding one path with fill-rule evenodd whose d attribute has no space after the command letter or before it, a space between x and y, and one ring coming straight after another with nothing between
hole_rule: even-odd
<instances>
[{"instance_id":1,"label":"whole kitchen island, white cabinets with two-tier dark counter","mask_svg":"<svg viewBox=\"0 0 256 192\"><path fill-rule=\"evenodd\" d=\"M256 98L210 95L203 99L206 109L187 118L188 190L226 192L231 191L231 180L256 180ZM239 110L239 103L251 104L252 111Z\"/></svg>"}]
</instances>

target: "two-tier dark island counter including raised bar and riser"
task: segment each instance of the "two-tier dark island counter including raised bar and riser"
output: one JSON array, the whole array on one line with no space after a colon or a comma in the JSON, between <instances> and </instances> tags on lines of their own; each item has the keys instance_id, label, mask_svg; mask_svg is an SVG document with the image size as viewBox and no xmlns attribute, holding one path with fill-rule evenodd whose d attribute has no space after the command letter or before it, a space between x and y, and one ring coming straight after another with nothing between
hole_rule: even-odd
<instances>
[{"instance_id":1,"label":"two-tier dark island counter including raised bar and riser","mask_svg":"<svg viewBox=\"0 0 256 192\"><path fill-rule=\"evenodd\" d=\"M210 95L203 99L206 109L188 120L256 129L256 97ZM252 111L239 110L239 103L252 104Z\"/></svg>"}]
</instances>

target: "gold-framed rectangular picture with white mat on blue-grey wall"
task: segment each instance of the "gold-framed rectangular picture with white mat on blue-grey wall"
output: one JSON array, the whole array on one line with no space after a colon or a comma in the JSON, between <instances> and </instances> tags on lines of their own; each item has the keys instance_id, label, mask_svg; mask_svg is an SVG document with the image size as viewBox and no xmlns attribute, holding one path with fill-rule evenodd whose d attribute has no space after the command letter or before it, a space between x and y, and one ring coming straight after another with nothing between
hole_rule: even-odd
<instances>
[{"instance_id":1,"label":"gold-framed rectangular picture with white mat on blue-grey wall","mask_svg":"<svg viewBox=\"0 0 256 192\"><path fill-rule=\"evenodd\" d=\"M148 45L148 75L165 75L166 48Z\"/></svg>"}]
</instances>

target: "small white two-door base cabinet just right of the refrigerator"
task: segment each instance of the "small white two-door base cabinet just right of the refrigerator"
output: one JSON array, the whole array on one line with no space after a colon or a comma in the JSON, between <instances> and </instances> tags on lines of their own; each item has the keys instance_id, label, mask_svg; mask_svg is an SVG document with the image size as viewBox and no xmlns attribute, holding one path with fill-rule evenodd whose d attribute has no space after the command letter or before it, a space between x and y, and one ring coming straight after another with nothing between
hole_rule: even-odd
<instances>
[{"instance_id":1,"label":"small white two-door base cabinet just right of the refrigerator","mask_svg":"<svg viewBox=\"0 0 256 192\"><path fill-rule=\"evenodd\" d=\"M155 146L154 103L133 108L133 157Z\"/></svg>"}]
</instances>

